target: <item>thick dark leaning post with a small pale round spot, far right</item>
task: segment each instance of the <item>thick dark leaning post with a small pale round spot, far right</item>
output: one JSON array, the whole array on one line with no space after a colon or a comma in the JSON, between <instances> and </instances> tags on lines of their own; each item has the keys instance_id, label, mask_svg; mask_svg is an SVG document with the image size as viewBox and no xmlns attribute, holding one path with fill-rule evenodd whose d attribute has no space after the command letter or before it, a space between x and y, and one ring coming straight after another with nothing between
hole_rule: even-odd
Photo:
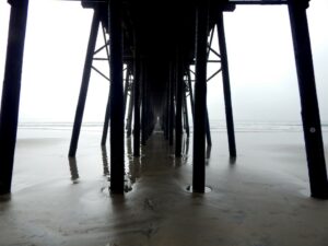
<instances>
[{"instance_id":1,"label":"thick dark leaning post with a small pale round spot, far right","mask_svg":"<svg viewBox=\"0 0 328 246\"><path fill-rule=\"evenodd\" d=\"M309 174L311 195L328 198L328 181L316 93L306 9L308 0L289 0L289 12L301 94L302 120Z\"/></svg>"}]
</instances>

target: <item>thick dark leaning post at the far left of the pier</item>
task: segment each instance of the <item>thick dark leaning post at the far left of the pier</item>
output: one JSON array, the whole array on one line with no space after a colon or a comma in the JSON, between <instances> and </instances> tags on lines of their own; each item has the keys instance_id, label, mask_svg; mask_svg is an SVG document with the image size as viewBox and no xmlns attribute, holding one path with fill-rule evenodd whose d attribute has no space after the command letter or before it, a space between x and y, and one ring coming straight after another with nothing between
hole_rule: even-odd
<instances>
[{"instance_id":1,"label":"thick dark leaning post at the far left of the pier","mask_svg":"<svg viewBox=\"0 0 328 246\"><path fill-rule=\"evenodd\" d=\"M11 0L0 115L0 195L11 192L28 0Z\"/></svg>"}]
</instances>

